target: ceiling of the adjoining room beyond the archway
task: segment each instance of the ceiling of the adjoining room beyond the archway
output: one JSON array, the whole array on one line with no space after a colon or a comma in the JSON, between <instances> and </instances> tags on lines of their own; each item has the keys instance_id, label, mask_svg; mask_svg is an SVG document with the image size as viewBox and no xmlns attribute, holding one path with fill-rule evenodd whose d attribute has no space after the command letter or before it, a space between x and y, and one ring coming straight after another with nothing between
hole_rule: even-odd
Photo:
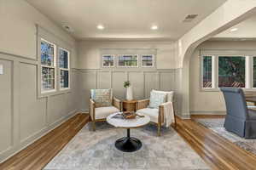
<instances>
[{"instance_id":1,"label":"ceiling of the adjoining room beyond the archway","mask_svg":"<svg viewBox=\"0 0 256 170\"><path fill-rule=\"evenodd\" d=\"M237 31L230 31L233 28L237 28ZM213 39L223 40L255 40L256 39L256 14L247 20L242 21L236 26L221 32L216 35Z\"/></svg>"}]
</instances>

